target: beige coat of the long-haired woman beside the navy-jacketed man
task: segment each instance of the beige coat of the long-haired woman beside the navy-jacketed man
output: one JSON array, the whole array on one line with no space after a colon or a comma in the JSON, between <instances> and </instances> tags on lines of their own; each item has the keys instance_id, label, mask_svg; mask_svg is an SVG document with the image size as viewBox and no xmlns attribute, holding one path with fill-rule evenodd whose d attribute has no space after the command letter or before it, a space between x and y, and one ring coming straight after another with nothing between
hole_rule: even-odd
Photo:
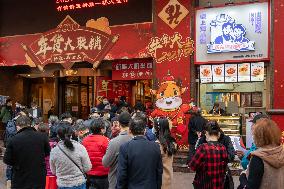
<instances>
[{"instance_id":1,"label":"beige coat of the long-haired woman beside the navy-jacketed man","mask_svg":"<svg viewBox=\"0 0 284 189\"><path fill-rule=\"evenodd\" d=\"M162 189L172 189L173 180L173 155L168 156L163 150L163 147L159 141L156 141L160 145L160 150L162 154L163 161L163 180Z\"/></svg>"}]
</instances>

